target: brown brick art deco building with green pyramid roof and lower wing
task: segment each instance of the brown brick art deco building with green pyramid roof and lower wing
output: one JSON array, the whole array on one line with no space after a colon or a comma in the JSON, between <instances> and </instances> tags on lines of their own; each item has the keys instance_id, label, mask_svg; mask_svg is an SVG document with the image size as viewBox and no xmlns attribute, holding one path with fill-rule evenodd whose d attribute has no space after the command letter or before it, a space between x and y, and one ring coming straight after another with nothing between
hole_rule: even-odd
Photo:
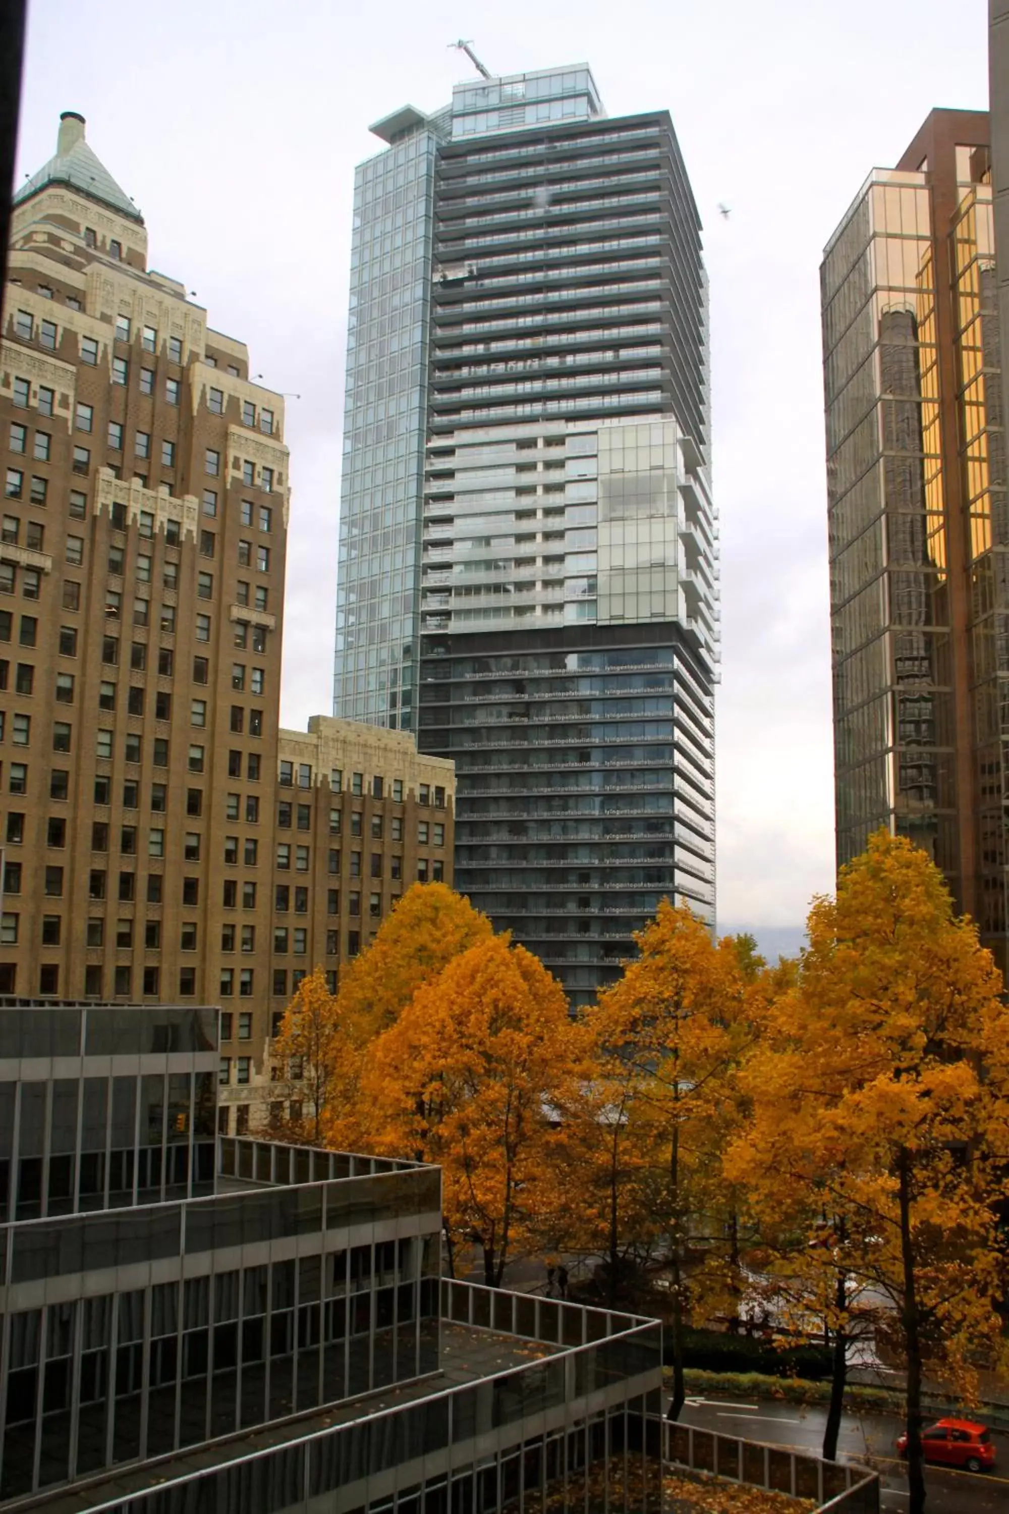
<instances>
[{"instance_id":1,"label":"brown brick art deco building with green pyramid roof and lower wing","mask_svg":"<svg viewBox=\"0 0 1009 1514\"><path fill-rule=\"evenodd\" d=\"M148 268L73 112L12 227L0 993L219 999L245 1125L298 977L336 981L408 883L451 881L452 765L278 731L283 397Z\"/></svg>"}]
</instances>

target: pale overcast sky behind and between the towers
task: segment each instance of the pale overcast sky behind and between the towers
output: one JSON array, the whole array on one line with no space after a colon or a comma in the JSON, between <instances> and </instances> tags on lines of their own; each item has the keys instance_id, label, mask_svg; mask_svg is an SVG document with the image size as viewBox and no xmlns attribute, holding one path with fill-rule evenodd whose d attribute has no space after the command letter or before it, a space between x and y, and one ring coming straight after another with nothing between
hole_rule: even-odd
<instances>
[{"instance_id":1,"label":"pale overcast sky behind and between the towers","mask_svg":"<svg viewBox=\"0 0 1009 1514\"><path fill-rule=\"evenodd\" d=\"M719 924L797 925L834 883L820 253L933 106L986 109L986 3L32 0L18 180L80 111L151 266L301 395L286 725L331 709L354 165L371 121L470 76L458 36L492 73L587 61L610 115L672 112L711 276Z\"/></svg>"}]
</instances>

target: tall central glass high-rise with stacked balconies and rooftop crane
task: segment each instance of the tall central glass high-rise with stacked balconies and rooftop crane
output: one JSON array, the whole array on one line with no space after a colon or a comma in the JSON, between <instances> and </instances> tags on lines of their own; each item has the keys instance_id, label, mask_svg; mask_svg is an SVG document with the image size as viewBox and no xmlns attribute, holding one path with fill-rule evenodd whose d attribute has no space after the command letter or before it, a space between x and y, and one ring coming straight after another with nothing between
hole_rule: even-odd
<instances>
[{"instance_id":1,"label":"tall central glass high-rise with stacked balconies and rooftop crane","mask_svg":"<svg viewBox=\"0 0 1009 1514\"><path fill-rule=\"evenodd\" d=\"M585 65L455 88L357 174L336 710L457 766L455 881L575 1001L714 911L700 224Z\"/></svg>"}]
</instances>

